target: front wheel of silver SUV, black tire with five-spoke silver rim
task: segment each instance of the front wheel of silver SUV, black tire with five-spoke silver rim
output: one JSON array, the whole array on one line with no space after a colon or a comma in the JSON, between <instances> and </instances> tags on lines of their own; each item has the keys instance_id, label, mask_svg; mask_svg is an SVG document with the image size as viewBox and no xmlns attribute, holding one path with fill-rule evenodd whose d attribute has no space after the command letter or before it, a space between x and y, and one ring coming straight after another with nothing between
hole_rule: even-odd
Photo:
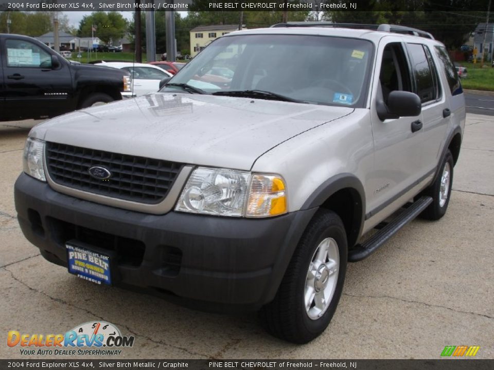
<instances>
[{"instance_id":1,"label":"front wheel of silver SUV, black tire with five-spoke silver rim","mask_svg":"<svg viewBox=\"0 0 494 370\"><path fill-rule=\"evenodd\" d=\"M305 230L274 300L259 312L275 337L307 343L328 326L340 301L347 262L340 217L320 209Z\"/></svg>"}]
</instances>

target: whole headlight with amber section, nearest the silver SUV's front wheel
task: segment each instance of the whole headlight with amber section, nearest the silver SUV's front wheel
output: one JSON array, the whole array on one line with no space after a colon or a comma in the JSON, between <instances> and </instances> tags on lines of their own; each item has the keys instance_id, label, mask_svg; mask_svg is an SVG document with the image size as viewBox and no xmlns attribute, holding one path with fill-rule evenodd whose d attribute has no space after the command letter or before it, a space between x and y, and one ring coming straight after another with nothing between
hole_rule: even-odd
<instances>
[{"instance_id":1,"label":"whole headlight with amber section, nearest the silver SUV's front wheel","mask_svg":"<svg viewBox=\"0 0 494 370\"><path fill-rule=\"evenodd\" d=\"M278 175L199 167L192 172L176 211L234 217L287 212L285 182Z\"/></svg>"}]
</instances>

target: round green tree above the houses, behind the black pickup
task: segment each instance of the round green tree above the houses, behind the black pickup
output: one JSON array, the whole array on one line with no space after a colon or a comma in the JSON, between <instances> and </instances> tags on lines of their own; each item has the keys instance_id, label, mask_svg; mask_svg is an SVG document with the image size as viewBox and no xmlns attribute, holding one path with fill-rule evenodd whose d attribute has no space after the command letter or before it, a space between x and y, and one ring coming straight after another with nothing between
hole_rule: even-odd
<instances>
[{"instance_id":1,"label":"round green tree above the houses, behind the black pickup","mask_svg":"<svg viewBox=\"0 0 494 370\"><path fill-rule=\"evenodd\" d=\"M85 15L79 24L78 36L90 37L94 26L94 36L103 43L117 43L127 33L127 20L118 12L97 11Z\"/></svg>"}]
</instances>

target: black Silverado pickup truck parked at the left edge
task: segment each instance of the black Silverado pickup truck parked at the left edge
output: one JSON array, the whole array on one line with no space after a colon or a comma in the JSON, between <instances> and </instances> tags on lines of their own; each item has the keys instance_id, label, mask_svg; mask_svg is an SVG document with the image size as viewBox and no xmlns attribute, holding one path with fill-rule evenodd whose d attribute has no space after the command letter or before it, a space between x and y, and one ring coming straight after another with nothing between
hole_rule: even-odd
<instances>
[{"instance_id":1,"label":"black Silverado pickup truck parked at the left edge","mask_svg":"<svg viewBox=\"0 0 494 370\"><path fill-rule=\"evenodd\" d=\"M0 121L43 119L132 96L126 71L74 64L28 36L0 33Z\"/></svg>"}]
</instances>

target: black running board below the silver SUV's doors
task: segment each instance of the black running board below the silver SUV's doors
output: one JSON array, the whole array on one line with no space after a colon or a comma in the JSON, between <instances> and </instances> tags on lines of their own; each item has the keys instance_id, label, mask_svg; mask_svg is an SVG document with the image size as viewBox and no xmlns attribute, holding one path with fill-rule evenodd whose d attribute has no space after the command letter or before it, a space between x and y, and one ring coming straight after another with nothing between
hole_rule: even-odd
<instances>
[{"instance_id":1,"label":"black running board below the silver SUV's doors","mask_svg":"<svg viewBox=\"0 0 494 370\"><path fill-rule=\"evenodd\" d=\"M362 261L364 258L374 253L387 241L387 239L392 237L398 230L417 217L431 203L432 198L430 196L422 196L414 201L409 208L404 210L399 216L367 239L363 244L358 244L354 249L348 251L348 262Z\"/></svg>"}]
</instances>

